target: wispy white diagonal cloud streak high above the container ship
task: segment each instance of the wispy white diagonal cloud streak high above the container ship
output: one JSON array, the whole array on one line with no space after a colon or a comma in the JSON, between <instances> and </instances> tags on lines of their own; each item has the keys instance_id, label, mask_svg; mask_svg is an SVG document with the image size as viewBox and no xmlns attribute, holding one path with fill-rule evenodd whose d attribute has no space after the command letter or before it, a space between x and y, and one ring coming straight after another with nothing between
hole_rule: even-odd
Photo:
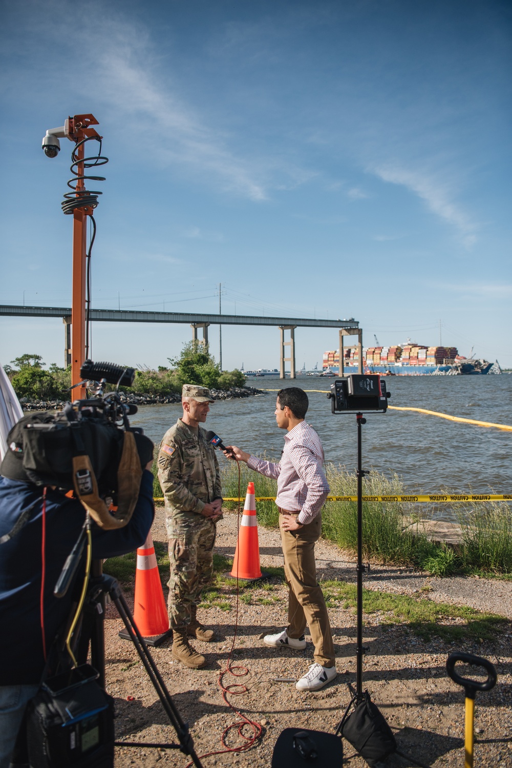
<instances>
[{"instance_id":1,"label":"wispy white diagonal cloud streak high above the container ship","mask_svg":"<svg viewBox=\"0 0 512 768\"><path fill-rule=\"evenodd\" d=\"M453 193L445 180L437 174L406 169L399 165L377 165L370 168L383 181L401 184L425 201L432 213L437 214L446 223L455 227L458 237L465 247L470 247L476 240L478 224L453 200Z\"/></svg>"}]
</instances>

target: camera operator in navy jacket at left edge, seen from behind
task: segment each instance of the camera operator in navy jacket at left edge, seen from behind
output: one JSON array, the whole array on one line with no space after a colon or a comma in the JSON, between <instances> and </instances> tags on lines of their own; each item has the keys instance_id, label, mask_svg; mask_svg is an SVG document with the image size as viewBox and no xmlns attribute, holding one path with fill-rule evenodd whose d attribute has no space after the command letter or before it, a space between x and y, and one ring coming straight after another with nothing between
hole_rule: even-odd
<instances>
[{"instance_id":1,"label":"camera operator in navy jacket at left edge, seen from behind","mask_svg":"<svg viewBox=\"0 0 512 768\"><path fill-rule=\"evenodd\" d=\"M84 524L84 506L57 488L28 481L21 442L8 436L0 466L0 768L8 768L28 701L38 691L54 638L73 609L73 585L63 598L53 591ZM153 523L153 443L136 435L144 469L133 515L126 526L92 525L92 557L112 558L143 545ZM75 583L84 574L84 558Z\"/></svg>"}]
</instances>

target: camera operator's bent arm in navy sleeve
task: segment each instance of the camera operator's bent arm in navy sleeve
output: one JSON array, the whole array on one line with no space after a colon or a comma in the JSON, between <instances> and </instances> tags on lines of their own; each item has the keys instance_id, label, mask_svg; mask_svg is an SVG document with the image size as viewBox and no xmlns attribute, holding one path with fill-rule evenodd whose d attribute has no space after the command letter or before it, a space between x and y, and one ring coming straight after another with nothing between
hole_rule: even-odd
<instances>
[{"instance_id":1,"label":"camera operator's bent arm in navy sleeve","mask_svg":"<svg viewBox=\"0 0 512 768\"><path fill-rule=\"evenodd\" d=\"M142 547L154 517L153 472L146 468L140 480L139 498L130 522L124 528L116 528L114 531L102 531L97 525L93 526L93 558L116 558Z\"/></svg>"}]
</instances>

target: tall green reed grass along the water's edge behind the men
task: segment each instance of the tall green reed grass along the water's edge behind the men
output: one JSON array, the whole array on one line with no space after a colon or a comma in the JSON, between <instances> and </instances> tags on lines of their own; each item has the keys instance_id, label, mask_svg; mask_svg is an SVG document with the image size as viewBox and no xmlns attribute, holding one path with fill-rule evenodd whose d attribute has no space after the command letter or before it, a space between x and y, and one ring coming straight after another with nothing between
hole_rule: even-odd
<instances>
[{"instance_id":1,"label":"tall green reed grass along the water's edge behind the men","mask_svg":"<svg viewBox=\"0 0 512 768\"><path fill-rule=\"evenodd\" d=\"M267 458L262 456L262 458ZM238 475L238 470L240 475ZM162 496L156 464L153 495ZM356 476L341 465L326 467L330 495L355 496ZM243 508L248 482L254 482L255 495L277 494L277 482L259 475L247 465L228 462L221 469L222 492L225 497L241 496ZM370 472L363 478L363 495L403 495L398 475L386 477ZM236 509L237 502L225 502L228 509ZM279 513L273 501L257 502L258 522L277 527ZM369 560L385 564L414 566L435 576L454 573L512 574L512 515L506 502L478 502L478 505L457 504L451 509L461 525L461 541L445 545L431 541L417 509L399 502L363 502L363 555ZM322 535L340 548L356 551L356 502L327 502L323 508Z\"/></svg>"}]
</instances>

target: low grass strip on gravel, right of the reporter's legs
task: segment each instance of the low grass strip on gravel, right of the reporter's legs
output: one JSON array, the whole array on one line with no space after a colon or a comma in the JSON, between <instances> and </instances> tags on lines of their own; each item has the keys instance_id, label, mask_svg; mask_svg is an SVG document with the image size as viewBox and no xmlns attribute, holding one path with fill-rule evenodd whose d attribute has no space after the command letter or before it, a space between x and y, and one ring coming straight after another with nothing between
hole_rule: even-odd
<instances>
[{"instance_id":1,"label":"low grass strip on gravel, right of the reporter's legs","mask_svg":"<svg viewBox=\"0 0 512 768\"><path fill-rule=\"evenodd\" d=\"M345 581L323 581L322 590L330 595L331 601L343 601L343 607L356 610L356 584ZM363 612L381 614L382 624L405 624L406 627L425 641L432 636L446 642L460 640L495 640L498 631L507 620L470 607L447 603L435 603L425 598L412 598L405 594L363 589ZM457 624L448 624L448 620Z\"/></svg>"}]
</instances>

